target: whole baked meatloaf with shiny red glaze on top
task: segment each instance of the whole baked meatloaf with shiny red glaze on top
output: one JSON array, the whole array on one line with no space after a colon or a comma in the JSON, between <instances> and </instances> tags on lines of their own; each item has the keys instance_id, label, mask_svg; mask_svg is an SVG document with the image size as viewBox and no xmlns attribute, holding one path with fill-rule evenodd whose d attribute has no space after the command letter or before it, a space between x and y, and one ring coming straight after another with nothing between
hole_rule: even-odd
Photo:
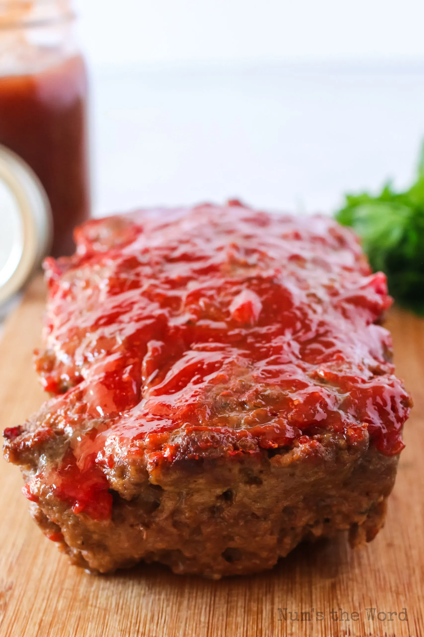
<instances>
[{"instance_id":1,"label":"whole baked meatloaf with shiny red glaze on top","mask_svg":"<svg viewBox=\"0 0 424 637\"><path fill-rule=\"evenodd\" d=\"M76 230L47 259L50 399L6 429L44 534L105 573L212 578L383 525L410 399L352 232L230 201Z\"/></svg>"}]
</instances>

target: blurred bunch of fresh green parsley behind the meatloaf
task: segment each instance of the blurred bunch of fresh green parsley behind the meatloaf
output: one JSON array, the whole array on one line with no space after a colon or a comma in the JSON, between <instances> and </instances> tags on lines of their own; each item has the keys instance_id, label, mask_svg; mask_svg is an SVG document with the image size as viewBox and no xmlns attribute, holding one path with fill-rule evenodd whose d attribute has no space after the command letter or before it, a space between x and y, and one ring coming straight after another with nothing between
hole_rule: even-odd
<instances>
[{"instance_id":1,"label":"blurred bunch of fresh green parsley behind the meatloaf","mask_svg":"<svg viewBox=\"0 0 424 637\"><path fill-rule=\"evenodd\" d=\"M409 190L395 192L388 182L377 196L347 194L336 219L359 234L371 268L386 274L397 303L424 315L424 144Z\"/></svg>"}]
</instances>

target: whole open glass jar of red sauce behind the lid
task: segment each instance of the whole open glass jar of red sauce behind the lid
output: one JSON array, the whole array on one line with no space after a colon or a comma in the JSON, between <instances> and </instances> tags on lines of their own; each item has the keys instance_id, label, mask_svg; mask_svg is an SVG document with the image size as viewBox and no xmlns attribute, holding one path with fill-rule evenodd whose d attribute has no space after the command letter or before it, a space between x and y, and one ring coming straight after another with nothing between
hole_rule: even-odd
<instances>
[{"instance_id":1,"label":"whole open glass jar of red sauce behind the lid","mask_svg":"<svg viewBox=\"0 0 424 637\"><path fill-rule=\"evenodd\" d=\"M53 213L54 256L90 212L87 81L71 0L0 0L0 144L34 170Z\"/></svg>"}]
</instances>

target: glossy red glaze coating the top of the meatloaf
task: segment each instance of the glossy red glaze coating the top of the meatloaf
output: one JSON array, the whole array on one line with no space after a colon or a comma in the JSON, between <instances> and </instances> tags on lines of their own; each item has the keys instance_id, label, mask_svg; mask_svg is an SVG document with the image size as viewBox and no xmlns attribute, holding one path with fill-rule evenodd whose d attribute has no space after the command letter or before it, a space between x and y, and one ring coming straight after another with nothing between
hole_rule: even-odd
<instances>
[{"instance_id":1,"label":"glossy red glaze coating the top of the meatloaf","mask_svg":"<svg viewBox=\"0 0 424 637\"><path fill-rule=\"evenodd\" d=\"M193 431L210 432L206 447L229 448L231 433L235 454L247 439L315 445L323 431L402 449L409 397L376 324L392 302L385 276L331 218L237 202L139 211L86 223L76 243L45 264L37 366L46 390L65 392L51 411L75 431L84 480L144 450L172 461L175 435ZM58 494L79 503L74 471Z\"/></svg>"}]
</instances>

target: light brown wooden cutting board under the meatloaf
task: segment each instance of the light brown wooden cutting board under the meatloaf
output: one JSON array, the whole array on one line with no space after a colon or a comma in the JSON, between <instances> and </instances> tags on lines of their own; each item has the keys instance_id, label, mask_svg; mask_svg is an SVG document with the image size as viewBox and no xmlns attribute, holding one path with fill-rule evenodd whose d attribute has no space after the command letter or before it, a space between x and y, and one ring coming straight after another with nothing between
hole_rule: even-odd
<instances>
[{"instance_id":1,"label":"light brown wooden cutting board under the meatloaf","mask_svg":"<svg viewBox=\"0 0 424 637\"><path fill-rule=\"evenodd\" d=\"M32 369L43 309L38 277L0 343L2 429L43 401ZM44 538L20 471L0 459L1 637L424 636L424 320L393 310L388 327L415 406L376 540L357 550L343 537L303 546L272 571L219 582L156 565L88 575Z\"/></svg>"}]
</instances>

